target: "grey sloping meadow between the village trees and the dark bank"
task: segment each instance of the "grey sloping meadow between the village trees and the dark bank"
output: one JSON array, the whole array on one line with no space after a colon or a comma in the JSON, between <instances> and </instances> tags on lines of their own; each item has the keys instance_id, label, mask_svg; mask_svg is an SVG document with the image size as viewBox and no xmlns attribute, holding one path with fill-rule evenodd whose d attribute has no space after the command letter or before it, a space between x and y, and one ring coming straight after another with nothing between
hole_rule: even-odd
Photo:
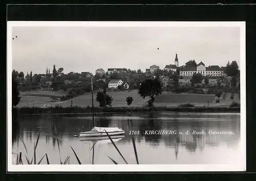
<instances>
[{"instance_id":1,"label":"grey sloping meadow between the village trees and the dark bank","mask_svg":"<svg viewBox=\"0 0 256 181\"><path fill-rule=\"evenodd\" d=\"M38 92L22 92L20 94L21 100L18 104L18 107L26 107L26 106L35 106L35 107L55 107L56 105L62 107L70 107L78 106L78 107L87 107L92 106L92 97L91 94L84 94L81 96L77 96L72 100L67 100L63 102L50 102L50 97L59 98L62 95L67 93L63 91L38 91ZM147 105L147 99L141 98L137 90L126 90L120 92L107 92L109 96L112 96L113 107L125 107L126 104L126 97L133 97L132 107L142 107ZM98 106L98 102L96 101L96 93L93 94L94 97L94 106ZM195 106L228 106L232 102L240 103L240 99L238 95L234 96L234 99L230 99L230 94L227 93L226 99L223 100L220 98L220 103L215 103L216 97L215 95L208 95L208 94L168 94L163 92L162 95L159 95L155 99L155 106L178 106L183 103L190 103L194 104Z\"/></svg>"}]
</instances>

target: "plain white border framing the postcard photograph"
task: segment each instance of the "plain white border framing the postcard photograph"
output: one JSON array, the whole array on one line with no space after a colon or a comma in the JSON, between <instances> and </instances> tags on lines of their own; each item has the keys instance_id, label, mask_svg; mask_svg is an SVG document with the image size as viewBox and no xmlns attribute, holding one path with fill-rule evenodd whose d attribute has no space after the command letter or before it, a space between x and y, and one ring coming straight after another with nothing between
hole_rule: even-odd
<instances>
[{"instance_id":1,"label":"plain white border framing the postcard photograph","mask_svg":"<svg viewBox=\"0 0 256 181\"><path fill-rule=\"evenodd\" d=\"M239 165L13 165L12 164L12 27L240 27L241 150ZM7 22L7 171L8 172L198 172L246 170L245 21L8 21Z\"/></svg>"}]
</instances>

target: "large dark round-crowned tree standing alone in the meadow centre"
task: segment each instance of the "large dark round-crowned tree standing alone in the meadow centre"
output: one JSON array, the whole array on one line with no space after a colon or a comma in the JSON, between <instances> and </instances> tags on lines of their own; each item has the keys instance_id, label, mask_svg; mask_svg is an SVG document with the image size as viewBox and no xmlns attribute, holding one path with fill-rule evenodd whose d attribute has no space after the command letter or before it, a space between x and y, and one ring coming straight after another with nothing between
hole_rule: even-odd
<instances>
[{"instance_id":1,"label":"large dark round-crowned tree standing alone in the meadow centre","mask_svg":"<svg viewBox=\"0 0 256 181\"><path fill-rule=\"evenodd\" d=\"M162 83L158 79L147 79L143 81L139 87L138 94L145 99L150 98L153 105L155 97L162 94Z\"/></svg>"}]
</instances>

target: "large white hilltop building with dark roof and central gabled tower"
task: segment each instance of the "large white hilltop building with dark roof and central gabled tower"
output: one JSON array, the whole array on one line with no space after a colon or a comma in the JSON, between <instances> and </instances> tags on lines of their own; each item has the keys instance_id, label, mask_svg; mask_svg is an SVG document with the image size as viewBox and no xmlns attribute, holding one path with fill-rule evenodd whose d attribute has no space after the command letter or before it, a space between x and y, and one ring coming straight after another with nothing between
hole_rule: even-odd
<instances>
[{"instance_id":1,"label":"large white hilltop building with dark roof and central gabled tower","mask_svg":"<svg viewBox=\"0 0 256 181\"><path fill-rule=\"evenodd\" d=\"M180 76L192 77L194 73L200 73L202 76L224 76L221 67L218 65L210 65L206 67L202 61L197 65L197 67L184 67L184 69L180 71Z\"/></svg>"}]
</instances>

